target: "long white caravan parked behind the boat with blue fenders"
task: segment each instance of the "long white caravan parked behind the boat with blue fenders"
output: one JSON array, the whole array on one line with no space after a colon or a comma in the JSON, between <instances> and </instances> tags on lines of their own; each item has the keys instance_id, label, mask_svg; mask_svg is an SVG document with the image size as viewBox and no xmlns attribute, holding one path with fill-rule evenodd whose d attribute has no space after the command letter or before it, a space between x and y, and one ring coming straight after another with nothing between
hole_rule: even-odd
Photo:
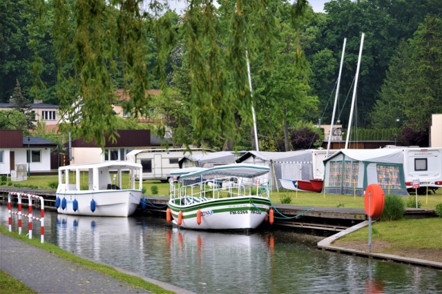
<instances>
[{"instance_id":1,"label":"long white caravan parked behind the boat with blue fenders","mask_svg":"<svg viewBox=\"0 0 442 294\"><path fill-rule=\"evenodd\" d=\"M179 169L179 161L185 154L204 154L213 152L202 148L171 148L133 150L126 156L128 161L140 163L143 167L143 180L161 180L167 182L173 169ZM139 178L140 175L135 175Z\"/></svg>"}]
</instances>

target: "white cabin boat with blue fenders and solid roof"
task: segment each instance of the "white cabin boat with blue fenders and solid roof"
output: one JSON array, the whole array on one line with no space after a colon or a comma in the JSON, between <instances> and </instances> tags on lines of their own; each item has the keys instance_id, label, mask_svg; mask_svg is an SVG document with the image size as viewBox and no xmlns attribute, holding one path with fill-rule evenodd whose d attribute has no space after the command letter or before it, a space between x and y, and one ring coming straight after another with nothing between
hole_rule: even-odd
<instances>
[{"instance_id":1,"label":"white cabin boat with blue fenders and solid roof","mask_svg":"<svg viewBox=\"0 0 442 294\"><path fill-rule=\"evenodd\" d=\"M140 204L142 178L135 186L135 171L142 165L109 161L59 167L58 213L77 216L131 216ZM140 172L139 171L139 172ZM122 180L123 175L128 180Z\"/></svg>"}]
</instances>

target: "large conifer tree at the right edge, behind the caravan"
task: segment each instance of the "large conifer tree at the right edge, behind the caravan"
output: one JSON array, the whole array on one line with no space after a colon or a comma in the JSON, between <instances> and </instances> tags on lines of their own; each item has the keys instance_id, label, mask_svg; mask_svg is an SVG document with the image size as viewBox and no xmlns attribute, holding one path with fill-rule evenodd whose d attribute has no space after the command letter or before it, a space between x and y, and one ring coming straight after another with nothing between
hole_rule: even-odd
<instances>
[{"instance_id":1,"label":"large conifer tree at the right edge, behind the caravan","mask_svg":"<svg viewBox=\"0 0 442 294\"><path fill-rule=\"evenodd\" d=\"M392 59L381 98L372 112L374 127L392 127L394 118L415 131L442 112L442 19L427 17Z\"/></svg>"}]
</instances>

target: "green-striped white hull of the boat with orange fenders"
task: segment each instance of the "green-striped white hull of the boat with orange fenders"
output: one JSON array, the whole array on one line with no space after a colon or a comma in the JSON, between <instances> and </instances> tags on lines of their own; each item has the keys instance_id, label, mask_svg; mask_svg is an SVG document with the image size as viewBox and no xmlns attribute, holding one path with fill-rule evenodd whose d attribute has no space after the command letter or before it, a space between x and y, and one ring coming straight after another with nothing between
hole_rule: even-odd
<instances>
[{"instance_id":1,"label":"green-striped white hull of the boat with orange fenders","mask_svg":"<svg viewBox=\"0 0 442 294\"><path fill-rule=\"evenodd\" d=\"M186 229L247 230L256 229L268 216L270 201L266 198L240 197L211 199L199 204L181 205L181 199L169 200L173 223ZM198 224L197 211L201 211ZM179 225L179 224L178 224Z\"/></svg>"}]
</instances>

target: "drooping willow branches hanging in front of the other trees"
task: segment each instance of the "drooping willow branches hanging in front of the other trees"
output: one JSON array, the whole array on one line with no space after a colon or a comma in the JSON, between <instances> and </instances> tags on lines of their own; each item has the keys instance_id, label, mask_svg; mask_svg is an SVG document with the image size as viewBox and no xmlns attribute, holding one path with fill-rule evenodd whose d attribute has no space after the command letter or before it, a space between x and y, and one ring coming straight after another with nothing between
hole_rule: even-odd
<instances>
[{"instance_id":1,"label":"drooping willow branches hanging in front of the other trees","mask_svg":"<svg viewBox=\"0 0 442 294\"><path fill-rule=\"evenodd\" d=\"M229 38L221 48L215 2L188 1L177 28L166 0L54 0L60 107L68 129L102 146L106 138L115 138L117 81L130 91L126 110L143 116L151 107L146 90L155 78L166 88L169 54L182 41L189 52L193 136L235 138L235 114L250 117L246 52L253 59L259 44L271 54L276 26L268 9L272 1L237 0L227 25ZM306 5L297 1L292 17ZM156 62L150 64L146 55L153 50ZM190 143L186 132L177 131L175 136Z\"/></svg>"}]
</instances>

